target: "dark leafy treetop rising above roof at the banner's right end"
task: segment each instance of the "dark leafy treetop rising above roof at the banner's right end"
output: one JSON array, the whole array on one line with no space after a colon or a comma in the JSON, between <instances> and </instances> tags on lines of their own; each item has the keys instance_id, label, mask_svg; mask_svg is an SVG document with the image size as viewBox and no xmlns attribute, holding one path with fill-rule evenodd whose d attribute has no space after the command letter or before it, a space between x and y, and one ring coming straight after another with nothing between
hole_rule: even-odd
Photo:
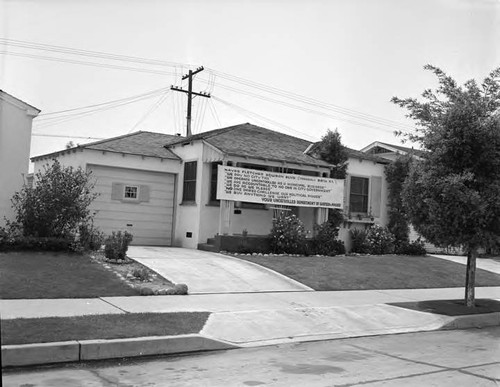
<instances>
[{"instance_id":1,"label":"dark leafy treetop rising above roof at the banner's right end","mask_svg":"<svg viewBox=\"0 0 500 387\"><path fill-rule=\"evenodd\" d=\"M317 148L319 157L333 165L331 177L334 179L345 179L347 171L348 154L346 148L342 145L340 133L335 129L330 129L321 138Z\"/></svg>"}]
</instances>

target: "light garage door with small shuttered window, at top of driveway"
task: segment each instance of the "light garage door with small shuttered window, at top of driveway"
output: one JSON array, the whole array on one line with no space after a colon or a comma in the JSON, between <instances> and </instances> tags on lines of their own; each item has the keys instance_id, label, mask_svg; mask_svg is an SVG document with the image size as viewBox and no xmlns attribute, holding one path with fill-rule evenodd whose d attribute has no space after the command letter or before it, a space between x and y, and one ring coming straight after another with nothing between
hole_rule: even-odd
<instances>
[{"instance_id":1,"label":"light garage door with small shuttered window, at top of driveway","mask_svg":"<svg viewBox=\"0 0 500 387\"><path fill-rule=\"evenodd\" d=\"M175 175L101 165L88 169L100 193L91 208L104 233L127 230L134 245L172 244Z\"/></svg>"}]
</instances>

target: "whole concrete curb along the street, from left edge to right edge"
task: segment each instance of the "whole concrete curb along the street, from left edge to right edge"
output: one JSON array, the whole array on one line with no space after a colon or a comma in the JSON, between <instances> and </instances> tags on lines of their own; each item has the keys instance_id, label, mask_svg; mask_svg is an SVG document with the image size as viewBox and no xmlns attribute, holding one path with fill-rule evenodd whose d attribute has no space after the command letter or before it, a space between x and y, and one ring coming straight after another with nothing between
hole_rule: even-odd
<instances>
[{"instance_id":1,"label":"whole concrete curb along the street, from left edge to right edge","mask_svg":"<svg viewBox=\"0 0 500 387\"><path fill-rule=\"evenodd\" d=\"M426 313L426 312L422 312ZM444 317L444 316L443 316ZM484 328L500 326L500 312L465 316L445 316L451 320L442 325L399 327L387 331L318 333L317 335L296 335L272 340L249 343L230 343L202 334L178 336L150 336L112 340L82 340L54 343L5 345L2 346L2 368L33 366L53 363L103 360L121 357L138 357L180 354L198 351L216 351L242 347L277 345L292 342L347 339L362 336L378 336L438 330Z\"/></svg>"}]
</instances>

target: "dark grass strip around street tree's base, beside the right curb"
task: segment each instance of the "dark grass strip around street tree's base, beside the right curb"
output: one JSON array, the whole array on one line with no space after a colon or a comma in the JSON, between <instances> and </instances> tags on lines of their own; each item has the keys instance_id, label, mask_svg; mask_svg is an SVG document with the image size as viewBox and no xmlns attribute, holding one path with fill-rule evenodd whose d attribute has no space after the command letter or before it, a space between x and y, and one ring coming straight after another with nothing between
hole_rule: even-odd
<instances>
[{"instance_id":1,"label":"dark grass strip around street tree's base, beside the right curb","mask_svg":"<svg viewBox=\"0 0 500 387\"><path fill-rule=\"evenodd\" d=\"M420 302L394 302L389 305L418 310L420 312L444 314L446 316L464 316L500 312L500 301L476 299L475 307L468 308L464 300L431 300Z\"/></svg>"}]
</instances>

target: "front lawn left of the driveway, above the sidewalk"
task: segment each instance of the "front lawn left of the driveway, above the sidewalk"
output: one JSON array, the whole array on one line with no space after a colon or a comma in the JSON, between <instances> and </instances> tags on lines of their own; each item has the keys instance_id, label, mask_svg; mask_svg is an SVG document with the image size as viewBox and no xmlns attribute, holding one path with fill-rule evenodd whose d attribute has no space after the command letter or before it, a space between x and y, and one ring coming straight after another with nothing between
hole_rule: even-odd
<instances>
[{"instance_id":1,"label":"front lawn left of the driveway, above the sidewalk","mask_svg":"<svg viewBox=\"0 0 500 387\"><path fill-rule=\"evenodd\" d=\"M132 296L138 291L86 255L0 253L0 298Z\"/></svg>"}]
</instances>

